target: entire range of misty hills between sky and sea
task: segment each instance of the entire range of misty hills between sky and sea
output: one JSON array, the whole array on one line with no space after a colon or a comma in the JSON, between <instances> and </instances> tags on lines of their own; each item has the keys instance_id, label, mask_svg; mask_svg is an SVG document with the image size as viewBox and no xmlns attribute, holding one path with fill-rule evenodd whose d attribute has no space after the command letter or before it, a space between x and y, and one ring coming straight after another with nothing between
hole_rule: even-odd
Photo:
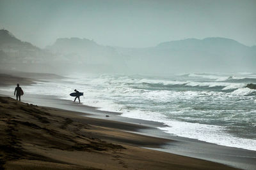
<instances>
[{"instance_id":1,"label":"entire range of misty hills between sky and sea","mask_svg":"<svg viewBox=\"0 0 256 170\"><path fill-rule=\"evenodd\" d=\"M86 38L59 38L40 49L1 30L0 57L2 69L51 73L256 71L255 46L226 38L168 41L148 48L102 46Z\"/></svg>"}]
</instances>

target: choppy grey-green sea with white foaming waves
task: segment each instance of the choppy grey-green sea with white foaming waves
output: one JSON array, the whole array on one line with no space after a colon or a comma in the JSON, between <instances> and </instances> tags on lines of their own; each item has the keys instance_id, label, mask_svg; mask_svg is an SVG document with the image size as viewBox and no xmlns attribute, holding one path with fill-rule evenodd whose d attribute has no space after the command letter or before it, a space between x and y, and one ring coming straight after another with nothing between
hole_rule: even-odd
<instances>
[{"instance_id":1,"label":"choppy grey-green sea with white foaming waves","mask_svg":"<svg viewBox=\"0 0 256 170\"><path fill-rule=\"evenodd\" d=\"M254 73L68 77L24 90L71 101L69 94L77 89L84 92L83 104L120 112L122 117L163 122L168 127L159 129L170 135L256 150L256 90L246 88L256 83Z\"/></svg>"}]
</instances>

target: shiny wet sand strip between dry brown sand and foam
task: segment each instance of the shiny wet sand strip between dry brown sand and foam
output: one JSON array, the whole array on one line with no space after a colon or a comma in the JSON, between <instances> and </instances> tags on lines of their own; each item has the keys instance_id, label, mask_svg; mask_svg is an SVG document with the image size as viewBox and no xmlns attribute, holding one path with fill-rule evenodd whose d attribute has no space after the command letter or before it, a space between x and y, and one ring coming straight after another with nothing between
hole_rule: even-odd
<instances>
[{"instance_id":1,"label":"shiny wet sand strip between dry brown sand and foam","mask_svg":"<svg viewBox=\"0 0 256 170\"><path fill-rule=\"evenodd\" d=\"M0 94L3 93L5 92L0 91ZM154 147L154 145L152 145L150 147L151 150L159 150L168 153L175 153L177 155L210 160L212 162L227 164L228 166L233 166L241 169L252 169L253 167L256 167L256 152L254 151L215 145L212 143L206 143L204 141L198 141L196 139L171 136L166 132L156 129L157 127L164 126L164 124L161 124L159 122L120 117L120 113L96 110L96 108L90 106L72 103L72 101L70 102L63 99L57 99L54 96L26 94L26 97L22 97L22 101L24 101L25 103L33 103L36 105L58 108L61 110L72 110L76 112L78 111L81 114L84 114L85 117L100 118L100 120L115 122L117 121L121 123L125 122L133 125L138 125L140 127L138 129L125 129L122 128L122 125L120 125L118 129L120 129L121 131L129 131L133 134L153 136L156 138L163 138L168 140L168 142L166 141L167 143L162 143L162 148ZM106 115L109 115L109 117L106 117ZM142 147L149 148L148 146Z\"/></svg>"}]
</instances>

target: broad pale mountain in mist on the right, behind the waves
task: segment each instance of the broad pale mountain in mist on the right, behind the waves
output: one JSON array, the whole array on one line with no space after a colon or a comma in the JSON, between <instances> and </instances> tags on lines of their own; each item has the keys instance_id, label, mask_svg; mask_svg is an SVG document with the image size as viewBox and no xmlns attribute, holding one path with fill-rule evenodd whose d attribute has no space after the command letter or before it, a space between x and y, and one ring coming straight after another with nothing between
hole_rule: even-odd
<instances>
[{"instance_id":1,"label":"broad pale mountain in mist on the right, behind the waves","mask_svg":"<svg viewBox=\"0 0 256 170\"><path fill-rule=\"evenodd\" d=\"M227 38L184 39L116 50L129 56L128 66L145 73L256 71L255 48Z\"/></svg>"}]
</instances>

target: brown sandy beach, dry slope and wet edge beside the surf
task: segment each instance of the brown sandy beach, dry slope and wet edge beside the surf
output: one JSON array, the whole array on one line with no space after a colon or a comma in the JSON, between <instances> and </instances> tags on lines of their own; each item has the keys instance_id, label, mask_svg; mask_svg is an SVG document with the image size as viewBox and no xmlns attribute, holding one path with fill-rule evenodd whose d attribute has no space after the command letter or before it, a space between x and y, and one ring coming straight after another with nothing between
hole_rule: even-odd
<instances>
[{"instance_id":1,"label":"brown sandy beach, dry slope and wet edge beside the surf","mask_svg":"<svg viewBox=\"0 0 256 170\"><path fill-rule=\"evenodd\" d=\"M25 76L17 76L23 85L37 78L51 81L49 75ZM17 77L1 74L1 86L15 85ZM4 136L1 167L5 169L256 167L254 151L170 136L157 129L166 127L159 122L120 117L120 113L100 111L56 96L25 92L20 103L7 91L1 90L0 94Z\"/></svg>"}]
</instances>

